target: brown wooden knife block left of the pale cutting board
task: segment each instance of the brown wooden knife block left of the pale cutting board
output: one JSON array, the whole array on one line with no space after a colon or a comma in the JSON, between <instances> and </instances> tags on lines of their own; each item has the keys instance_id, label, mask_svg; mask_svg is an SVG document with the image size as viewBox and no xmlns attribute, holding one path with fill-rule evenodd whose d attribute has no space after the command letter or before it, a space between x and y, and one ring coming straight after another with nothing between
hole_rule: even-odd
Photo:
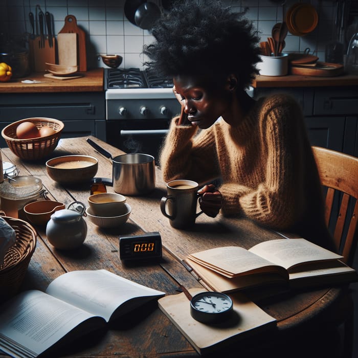
<instances>
[{"instance_id":1,"label":"brown wooden knife block left of the pale cutting board","mask_svg":"<svg viewBox=\"0 0 358 358\"><path fill-rule=\"evenodd\" d=\"M30 67L35 72L46 71L46 62L55 63L56 41L52 39L53 46L50 47L48 37L45 36L44 46L40 47L40 36L29 39L29 60Z\"/></svg>"}]
</instances>

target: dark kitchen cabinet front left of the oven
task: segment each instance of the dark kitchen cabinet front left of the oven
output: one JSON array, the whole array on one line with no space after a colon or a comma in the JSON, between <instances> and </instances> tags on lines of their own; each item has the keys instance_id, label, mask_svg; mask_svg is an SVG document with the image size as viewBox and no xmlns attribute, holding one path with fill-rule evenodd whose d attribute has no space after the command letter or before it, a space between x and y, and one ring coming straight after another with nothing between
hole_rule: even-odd
<instances>
[{"instance_id":1,"label":"dark kitchen cabinet front left of the oven","mask_svg":"<svg viewBox=\"0 0 358 358\"><path fill-rule=\"evenodd\" d=\"M50 117L64 123L61 138L95 136L106 140L103 92L2 93L0 130L14 121ZM6 146L0 138L0 146Z\"/></svg>"}]
</instances>

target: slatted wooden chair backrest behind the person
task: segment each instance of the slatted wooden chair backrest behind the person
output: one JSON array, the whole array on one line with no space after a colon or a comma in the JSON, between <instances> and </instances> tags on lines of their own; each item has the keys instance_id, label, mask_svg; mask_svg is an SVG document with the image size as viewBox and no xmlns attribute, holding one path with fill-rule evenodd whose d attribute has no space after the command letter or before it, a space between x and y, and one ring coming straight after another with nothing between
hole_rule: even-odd
<instances>
[{"instance_id":1,"label":"slatted wooden chair backrest behind the person","mask_svg":"<svg viewBox=\"0 0 358 358\"><path fill-rule=\"evenodd\" d=\"M333 222L331 227L334 228L333 238L337 252L344 256L342 261L352 265L358 241L358 158L321 147L313 146L312 150L321 184L327 187L326 225L329 227ZM332 207L333 203L337 203L337 192L340 193L338 215L334 215Z\"/></svg>"}]
</instances>

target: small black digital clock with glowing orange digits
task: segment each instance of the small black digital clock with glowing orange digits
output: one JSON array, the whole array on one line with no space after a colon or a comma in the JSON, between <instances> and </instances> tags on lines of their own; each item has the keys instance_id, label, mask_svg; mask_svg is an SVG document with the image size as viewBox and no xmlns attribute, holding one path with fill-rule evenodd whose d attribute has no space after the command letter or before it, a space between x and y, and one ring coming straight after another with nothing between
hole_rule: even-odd
<instances>
[{"instance_id":1,"label":"small black digital clock with glowing orange digits","mask_svg":"<svg viewBox=\"0 0 358 358\"><path fill-rule=\"evenodd\" d=\"M119 256L121 260L148 260L162 257L162 238L159 232L120 236Z\"/></svg>"}]
</instances>

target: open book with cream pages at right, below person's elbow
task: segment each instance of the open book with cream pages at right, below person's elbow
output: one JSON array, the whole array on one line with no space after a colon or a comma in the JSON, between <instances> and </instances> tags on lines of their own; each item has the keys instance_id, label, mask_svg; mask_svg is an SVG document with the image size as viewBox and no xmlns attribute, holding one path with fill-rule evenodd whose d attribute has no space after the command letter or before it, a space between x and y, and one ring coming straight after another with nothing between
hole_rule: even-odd
<instances>
[{"instance_id":1,"label":"open book with cream pages at right, below person's elbow","mask_svg":"<svg viewBox=\"0 0 358 358\"><path fill-rule=\"evenodd\" d=\"M249 250L219 247L190 254L185 261L206 287L228 293L263 285L299 288L357 280L342 257L299 238L269 240Z\"/></svg>"}]
</instances>

